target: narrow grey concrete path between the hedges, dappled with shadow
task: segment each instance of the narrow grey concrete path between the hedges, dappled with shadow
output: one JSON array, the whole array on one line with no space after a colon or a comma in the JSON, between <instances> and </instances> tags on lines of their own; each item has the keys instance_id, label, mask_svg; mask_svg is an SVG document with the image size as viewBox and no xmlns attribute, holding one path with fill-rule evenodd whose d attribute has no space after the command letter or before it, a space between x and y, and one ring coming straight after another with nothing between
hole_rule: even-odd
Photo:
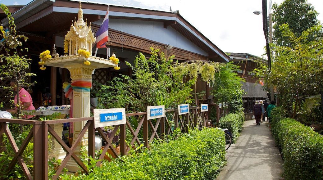
<instances>
[{"instance_id":1,"label":"narrow grey concrete path between the hedges, dappled with shadow","mask_svg":"<svg viewBox=\"0 0 323 180\"><path fill-rule=\"evenodd\" d=\"M216 180L284 179L283 160L268 121L256 125L252 119L243 127L238 140L227 150L227 164Z\"/></svg>"}]
</instances>

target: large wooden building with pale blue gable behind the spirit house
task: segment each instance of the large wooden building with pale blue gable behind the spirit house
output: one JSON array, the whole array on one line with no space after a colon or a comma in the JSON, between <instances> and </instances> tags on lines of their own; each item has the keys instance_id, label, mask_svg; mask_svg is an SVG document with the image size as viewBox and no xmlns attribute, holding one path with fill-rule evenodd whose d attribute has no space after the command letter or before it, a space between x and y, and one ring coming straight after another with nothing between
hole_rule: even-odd
<instances>
[{"instance_id":1,"label":"large wooden building with pale blue gable behind the spirit house","mask_svg":"<svg viewBox=\"0 0 323 180\"><path fill-rule=\"evenodd\" d=\"M94 35L106 15L109 4L82 1L84 21L91 23ZM72 0L34 0L25 6L9 6L13 10L18 34L26 35L29 39L23 44L29 49L25 52L32 59L30 71L36 77L31 81L37 84L30 90L36 105L42 105L41 97L51 94L51 105L64 105L62 83L68 81L69 72L66 69L47 67L40 70L39 54L45 50L53 51L54 45L59 55L64 54L64 36L70 30L71 24L77 20L79 1ZM8 19L2 16L2 24L8 26ZM139 52L150 56L151 47L160 49L166 57L175 55L180 62L190 60L210 60L229 62L229 56L214 45L207 37L187 22L179 11L159 11L135 8L130 6L110 5L109 7L109 42L108 48L101 48L97 56L107 58L107 53L115 53L120 60L120 70L113 68L97 69L93 79L104 84L110 78L119 74L131 76L130 68L125 61L133 62ZM92 47L95 52L95 44ZM208 87L199 82L199 86ZM0 85L9 85L9 80L0 80ZM205 90L205 88L204 88ZM9 108L6 92L1 93L5 108Z\"/></svg>"}]
</instances>

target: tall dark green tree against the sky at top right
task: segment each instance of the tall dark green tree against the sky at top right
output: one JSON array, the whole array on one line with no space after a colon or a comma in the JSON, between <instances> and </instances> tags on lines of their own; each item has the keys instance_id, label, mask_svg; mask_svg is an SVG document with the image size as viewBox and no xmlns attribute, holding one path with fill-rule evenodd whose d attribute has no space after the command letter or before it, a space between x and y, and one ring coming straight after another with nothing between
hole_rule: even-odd
<instances>
[{"instance_id":1,"label":"tall dark green tree against the sky at top right","mask_svg":"<svg viewBox=\"0 0 323 180\"><path fill-rule=\"evenodd\" d=\"M288 37L281 34L279 26L288 23L294 35L299 37L303 31L320 23L317 19L318 12L307 3L307 0L285 0L281 5L273 4L272 9L274 10L273 40L276 45L292 47ZM322 36L322 31L317 33ZM308 36L308 40L313 40L313 37Z\"/></svg>"}]
</instances>

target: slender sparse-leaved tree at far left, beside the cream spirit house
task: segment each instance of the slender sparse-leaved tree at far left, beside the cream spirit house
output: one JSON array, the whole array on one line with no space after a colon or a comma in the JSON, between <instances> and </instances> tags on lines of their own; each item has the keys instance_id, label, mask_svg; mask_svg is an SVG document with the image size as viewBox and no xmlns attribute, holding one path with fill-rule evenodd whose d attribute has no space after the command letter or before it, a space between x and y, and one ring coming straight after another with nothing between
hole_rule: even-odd
<instances>
[{"instance_id":1,"label":"slender sparse-leaved tree at far left, beside the cream spirit house","mask_svg":"<svg viewBox=\"0 0 323 180\"><path fill-rule=\"evenodd\" d=\"M16 34L16 25L14 24L14 18L11 16L11 13L9 12L8 8L0 4L1 9L5 12L9 19L9 29L4 29L3 26L0 26L0 38L2 38L2 41L0 42L1 49L5 50L4 54L0 55L0 61L3 62L6 61L6 64L3 64L0 66L0 75L1 78L10 78L14 79L16 81L16 86L31 86L33 83L28 83L28 77L30 76L36 76L33 73L29 73L29 64L28 61L30 61L27 56L21 55L22 49L18 50L19 46L22 46L22 42L19 39L23 39L24 41L27 41L27 37L24 35L17 35ZM26 48L28 51L28 49ZM2 89L5 90L12 90L13 87L9 86L2 86ZM9 96L14 97L15 94L13 94L12 91L9 92ZM13 101L13 100L12 100ZM12 104L14 104L12 102ZM21 108L20 105L20 98L19 98L19 91L17 91L17 112L19 117L21 117Z\"/></svg>"}]
</instances>

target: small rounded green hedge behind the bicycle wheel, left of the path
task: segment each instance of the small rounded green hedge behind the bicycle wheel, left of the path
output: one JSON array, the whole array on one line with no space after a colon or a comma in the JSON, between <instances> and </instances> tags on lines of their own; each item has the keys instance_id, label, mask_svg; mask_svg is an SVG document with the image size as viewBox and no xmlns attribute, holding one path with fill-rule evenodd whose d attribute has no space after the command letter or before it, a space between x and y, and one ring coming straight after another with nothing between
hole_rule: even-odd
<instances>
[{"instance_id":1,"label":"small rounded green hedge behind the bicycle wheel, left of the path","mask_svg":"<svg viewBox=\"0 0 323 180\"><path fill-rule=\"evenodd\" d=\"M219 119L220 128L226 128L230 131L233 139L233 143L238 139L242 126L244 124L244 115L240 114L227 114Z\"/></svg>"}]
</instances>

